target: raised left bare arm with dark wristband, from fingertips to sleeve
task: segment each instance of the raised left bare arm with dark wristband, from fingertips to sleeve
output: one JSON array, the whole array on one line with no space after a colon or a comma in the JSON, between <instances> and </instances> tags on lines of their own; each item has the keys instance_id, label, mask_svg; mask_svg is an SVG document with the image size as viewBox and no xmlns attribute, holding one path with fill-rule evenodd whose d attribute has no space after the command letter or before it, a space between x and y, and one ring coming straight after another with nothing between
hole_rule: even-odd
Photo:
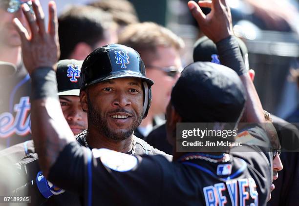
<instances>
[{"instance_id":1,"label":"raised left bare arm with dark wristband, from fingertips to sleeve","mask_svg":"<svg viewBox=\"0 0 299 206\"><path fill-rule=\"evenodd\" d=\"M54 1L49 2L49 24L46 30L40 2L32 0L32 3L35 15L27 4L22 4L30 31L17 18L14 24L21 37L23 62L32 79L32 137L43 175L47 177L60 151L75 138L64 119L57 96L55 64L60 48L56 5Z\"/></svg>"}]
</instances>

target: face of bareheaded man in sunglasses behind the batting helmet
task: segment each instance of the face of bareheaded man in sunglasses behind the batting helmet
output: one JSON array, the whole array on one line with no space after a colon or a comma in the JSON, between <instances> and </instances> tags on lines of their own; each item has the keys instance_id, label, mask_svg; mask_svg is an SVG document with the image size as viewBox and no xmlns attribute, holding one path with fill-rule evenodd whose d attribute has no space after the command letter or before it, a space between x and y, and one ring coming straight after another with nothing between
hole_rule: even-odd
<instances>
[{"instance_id":1,"label":"face of bareheaded man in sunglasses behind the batting helmet","mask_svg":"<svg viewBox=\"0 0 299 206\"><path fill-rule=\"evenodd\" d=\"M173 47L157 47L157 56L160 58L146 65L147 77L155 82L151 87L152 102L149 109L154 115L165 114L172 86L179 77L179 73L171 77L169 76L171 73L162 71L158 67L166 69L182 67L179 52Z\"/></svg>"}]
</instances>

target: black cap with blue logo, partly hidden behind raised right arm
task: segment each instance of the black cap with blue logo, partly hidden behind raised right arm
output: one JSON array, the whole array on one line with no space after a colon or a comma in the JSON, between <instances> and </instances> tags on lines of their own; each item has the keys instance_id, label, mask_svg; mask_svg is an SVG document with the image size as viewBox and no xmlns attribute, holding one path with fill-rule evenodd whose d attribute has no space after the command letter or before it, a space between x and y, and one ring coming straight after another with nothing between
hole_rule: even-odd
<instances>
[{"instance_id":1,"label":"black cap with blue logo, partly hidden behind raised right arm","mask_svg":"<svg viewBox=\"0 0 299 206\"><path fill-rule=\"evenodd\" d=\"M235 37L235 36L234 36ZM245 43L240 39L235 37L239 44L241 54L246 66L246 69L249 70L249 60L248 60L248 50ZM194 62L213 62L220 64L218 58L218 52L216 44L208 37L202 37L197 40L194 44L193 50L193 61Z\"/></svg>"}]
</instances>

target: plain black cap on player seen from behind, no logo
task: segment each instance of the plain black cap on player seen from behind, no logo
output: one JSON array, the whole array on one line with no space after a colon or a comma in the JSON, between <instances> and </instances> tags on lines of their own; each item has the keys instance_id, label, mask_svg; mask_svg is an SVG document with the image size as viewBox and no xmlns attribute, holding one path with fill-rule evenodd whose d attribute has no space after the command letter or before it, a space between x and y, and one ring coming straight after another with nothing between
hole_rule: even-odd
<instances>
[{"instance_id":1,"label":"plain black cap on player seen from behind, no logo","mask_svg":"<svg viewBox=\"0 0 299 206\"><path fill-rule=\"evenodd\" d=\"M189 64L171 92L175 110L190 123L236 123L245 100L237 73L211 62Z\"/></svg>"}]
</instances>

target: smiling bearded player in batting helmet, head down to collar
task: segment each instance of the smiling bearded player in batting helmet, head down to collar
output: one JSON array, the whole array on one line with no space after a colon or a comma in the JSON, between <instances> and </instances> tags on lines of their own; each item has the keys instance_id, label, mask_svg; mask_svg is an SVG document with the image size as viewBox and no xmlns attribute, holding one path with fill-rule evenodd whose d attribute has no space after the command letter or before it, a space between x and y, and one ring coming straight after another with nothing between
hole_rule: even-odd
<instances>
[{"instance_id":1,"label":"smiling bearded player in batting helmet, head down to collar","mask_svg":"<svg viewBox=\"0 0 299 206\"><path fill-rule=\"evenodd\" d=\"M80 144L171 159L133 134L147 117L153 85L134 49L109 44L94 50L82 65L80 81L81 105L88 117L88 129L77 137Z\"/></svg>"}]
</instances>

